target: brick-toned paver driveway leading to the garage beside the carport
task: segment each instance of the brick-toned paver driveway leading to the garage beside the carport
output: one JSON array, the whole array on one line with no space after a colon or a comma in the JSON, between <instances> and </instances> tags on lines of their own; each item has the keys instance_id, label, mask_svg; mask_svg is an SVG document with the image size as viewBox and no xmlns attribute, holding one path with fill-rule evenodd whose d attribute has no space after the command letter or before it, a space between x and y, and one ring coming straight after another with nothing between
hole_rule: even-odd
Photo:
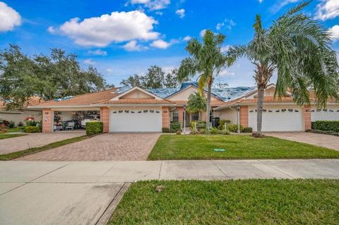
<instances>
[{"instance_id":1,"label":"brick-toned paver driveway leading to the garage beside the carport","mask_svg":"<svg viewBox=\"0 0 339 225\"><path fill-rule=\"evenodd\" d=\"M80 142L30 154L16 160L127 161L145 160L160 133L105 133Z\"/></svg>"}]
</instances>

